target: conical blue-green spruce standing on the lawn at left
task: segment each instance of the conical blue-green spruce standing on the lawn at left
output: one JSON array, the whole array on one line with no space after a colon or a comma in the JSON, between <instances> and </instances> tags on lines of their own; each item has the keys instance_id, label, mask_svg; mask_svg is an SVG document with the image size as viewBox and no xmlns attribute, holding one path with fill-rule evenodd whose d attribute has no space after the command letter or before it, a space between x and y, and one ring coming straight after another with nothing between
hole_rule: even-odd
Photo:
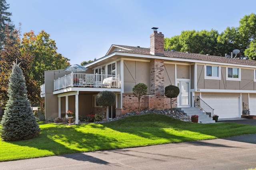
<instances>
[{"instance_id":1,"label":"conical blue-green spruce standing on the lawn at left","mask_svg":"<svg viewBox=\"0 0 256 170\"><path fill-rule=\"evenodd\" d=\"M13 64L8 87L9 100L1 121L4 141L32 139L40 133L27 96L25 77L18 64Z\"/></svg>"}]
</instances>

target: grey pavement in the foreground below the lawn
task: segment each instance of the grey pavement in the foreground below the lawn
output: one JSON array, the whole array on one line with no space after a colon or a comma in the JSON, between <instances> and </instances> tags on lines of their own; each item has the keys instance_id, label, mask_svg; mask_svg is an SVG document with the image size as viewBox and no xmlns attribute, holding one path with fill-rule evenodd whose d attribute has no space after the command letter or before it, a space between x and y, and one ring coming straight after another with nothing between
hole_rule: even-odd
<instances>
[{"instance_id":1,"label":"grey pavement in the foreground below the lawn","mask_svg":"<svg viewBox=\"0 0 256 170\"><path fill-rule=\"evenodd\" d=\"M256 134L1 162L0 167L3 170L245 170L256 168Z\"/></svg>"}]
</instances>

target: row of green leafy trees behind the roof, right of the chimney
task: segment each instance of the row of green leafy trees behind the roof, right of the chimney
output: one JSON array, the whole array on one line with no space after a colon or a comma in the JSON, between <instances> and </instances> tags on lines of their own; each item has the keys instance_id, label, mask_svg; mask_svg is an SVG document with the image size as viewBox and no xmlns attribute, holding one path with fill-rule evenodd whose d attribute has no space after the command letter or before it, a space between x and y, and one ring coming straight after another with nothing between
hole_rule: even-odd
<instances>
[{"instance_id":1,"label":"row of green leafy trees behind the roof, right of the chimney","mask_svg":"<svg viewBox=\"0 0 256 170\"><path fill-rule=\"evenodd\" d=\"M180 35L164 38L164 49L198 54L225 56L239 49L238 57L256 60L254 44L256 41L256 15L245 15L238 27L227 27L222 33L210 31L182 31Z\"/></svg>"}]
</instances>

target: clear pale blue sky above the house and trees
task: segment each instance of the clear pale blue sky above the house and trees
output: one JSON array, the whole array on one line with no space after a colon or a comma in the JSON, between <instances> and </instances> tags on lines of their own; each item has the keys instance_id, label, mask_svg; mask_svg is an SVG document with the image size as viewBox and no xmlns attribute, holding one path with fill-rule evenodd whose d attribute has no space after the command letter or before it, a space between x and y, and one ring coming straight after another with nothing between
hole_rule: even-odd
<instances>
[{"instance_id":1,"label":"clear pale blue sky above the house and trees","mask_svg":"<svg viewBox=\"0 0 256 170\"><path fill-rule=\"evenodd\" d=\"M150 47L152 27L181 31L238 27L255 0L6 0L22 33L45 30L70 64L103 57L112 44Z\"/></svg>"}]
</instances>

